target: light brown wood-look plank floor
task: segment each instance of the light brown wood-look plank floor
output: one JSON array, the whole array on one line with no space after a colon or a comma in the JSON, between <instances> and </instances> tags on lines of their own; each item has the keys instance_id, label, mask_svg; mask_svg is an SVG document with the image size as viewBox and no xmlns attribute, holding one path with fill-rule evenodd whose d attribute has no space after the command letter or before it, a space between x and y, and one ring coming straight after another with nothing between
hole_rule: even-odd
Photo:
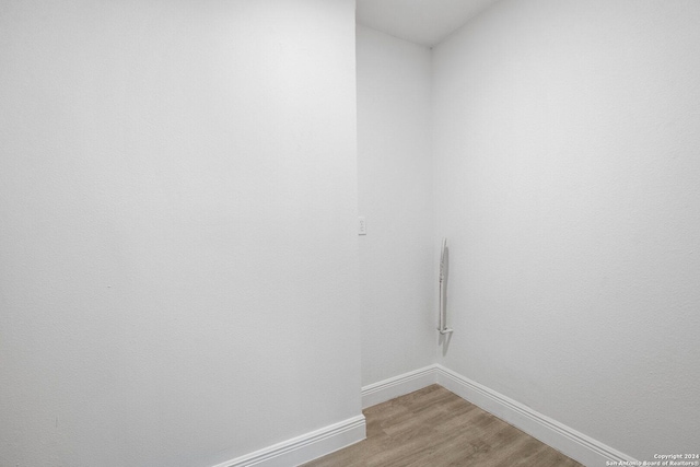
<instances>
[{"instance_id":1,"label":"light brown wood-look plank floor","mask_svg":"<svg viewBox=\"0 0 700 467\"><path fill-rule=\"evenodd\" d=\"M582 466L438 385L364 416L366 440L304 467Z\"/></svg>"}]
</instances>

